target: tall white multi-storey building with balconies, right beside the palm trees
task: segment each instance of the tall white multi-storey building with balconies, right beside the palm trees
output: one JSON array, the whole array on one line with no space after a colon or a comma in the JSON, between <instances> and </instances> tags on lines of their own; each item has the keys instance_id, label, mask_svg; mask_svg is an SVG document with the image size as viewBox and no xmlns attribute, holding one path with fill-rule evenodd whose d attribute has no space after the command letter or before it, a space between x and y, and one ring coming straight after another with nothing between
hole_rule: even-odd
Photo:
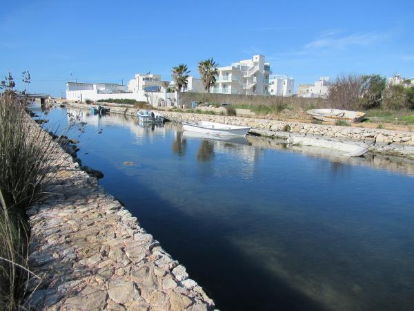
<instances>
[{"instance_id":1,"label":"tall white multi-storey building with balconies, right beside the palm trees","mask_svg":"<svg viewBox=\"0 0 414 311\"><path fill-rule=\"evenodd\" d=\"M268 95L270 64L264 56L242 60L231 66L219 67L215 87L211 93Z\"/></svg>"}]
</instances>

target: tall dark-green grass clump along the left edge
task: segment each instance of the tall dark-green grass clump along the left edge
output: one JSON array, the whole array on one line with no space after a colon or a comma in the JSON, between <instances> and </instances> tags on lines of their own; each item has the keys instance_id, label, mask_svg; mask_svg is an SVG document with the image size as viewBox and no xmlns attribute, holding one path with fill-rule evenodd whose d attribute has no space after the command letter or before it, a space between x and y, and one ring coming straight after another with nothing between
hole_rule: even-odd
<instances>
[{"instance_id":1,"label":"tall dark-green grass clump along the left edge","mask_svg":"<svg viewBox=\"0 0 414 311\"><path fill-rule=\"evenodd\" d=\"M12 94L0 95L0 306L19 310L31 274L26 209L46 197L53 178L53 149Z\"/></svg>"}]
</instances>

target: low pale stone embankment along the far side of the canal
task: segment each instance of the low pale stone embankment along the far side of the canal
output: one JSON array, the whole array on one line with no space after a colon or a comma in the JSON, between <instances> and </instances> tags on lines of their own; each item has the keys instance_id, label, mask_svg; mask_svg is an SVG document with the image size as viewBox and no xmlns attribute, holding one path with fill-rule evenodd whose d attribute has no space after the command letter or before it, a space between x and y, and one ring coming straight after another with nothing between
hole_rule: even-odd
<instances>
[{"instance_id":1,"label":"low pale stone embankment along the far side of the canal","mask_svg":"<svg viewBox=\"0 0 414 311\"><path fill-rule=\"evenodd\" d=\"M86 104L70 103L70 106L88 109ZM138 109L125 105L108 104L112 113L137 115ZM390 131L386 129L368 129L354 126L334 126L301 122L285 122L252 117L204 115L199 113L181 113L163 111L168 120L175 122L210 121L225 124L250 126L250 133L268 137L284 138L288 135L313 135L334 140L353 140L370 145L370 151L393 156L414 158L414 133L404 131Z\"/></svg>"}]
</instances>

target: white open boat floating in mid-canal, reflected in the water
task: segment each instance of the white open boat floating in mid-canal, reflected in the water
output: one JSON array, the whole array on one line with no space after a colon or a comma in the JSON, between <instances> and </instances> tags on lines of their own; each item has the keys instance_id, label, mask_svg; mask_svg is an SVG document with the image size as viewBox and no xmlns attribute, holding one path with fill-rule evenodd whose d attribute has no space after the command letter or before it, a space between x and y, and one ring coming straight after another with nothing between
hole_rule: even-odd
<instances>
[{"instance_id":1,"label":"white open boat floating in mid-canal, reflected in the water","mask_svg":"<svg viewBox=\"0 0 414 311\"><path fill-rule=\"evenodd\" d=\"M246 136L250 127L200 121L196 124L183 122L184 131L206 133L209 135Z\"/></svg>"}]
</instances>

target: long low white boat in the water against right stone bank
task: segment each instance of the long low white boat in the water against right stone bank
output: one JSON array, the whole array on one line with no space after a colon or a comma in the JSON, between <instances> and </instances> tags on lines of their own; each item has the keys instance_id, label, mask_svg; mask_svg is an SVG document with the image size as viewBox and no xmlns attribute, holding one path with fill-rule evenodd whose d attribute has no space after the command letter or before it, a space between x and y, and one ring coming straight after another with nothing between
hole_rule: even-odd
<instances>
[{"instance_id":1,"label":"long low white boat in the water against right stone bank","mask_svg":"<svg viewBox=\"0 0 414 311\"><path fill-rule=\"evenodd\" d=\"M308 137L290 137L288 144L299 144L302 146L313 146L342 151L342 156L359 157L368 151L366 144L357 144L351 142L335 142L334 140L324 140Z\"/></svg>"}]
</instances>

